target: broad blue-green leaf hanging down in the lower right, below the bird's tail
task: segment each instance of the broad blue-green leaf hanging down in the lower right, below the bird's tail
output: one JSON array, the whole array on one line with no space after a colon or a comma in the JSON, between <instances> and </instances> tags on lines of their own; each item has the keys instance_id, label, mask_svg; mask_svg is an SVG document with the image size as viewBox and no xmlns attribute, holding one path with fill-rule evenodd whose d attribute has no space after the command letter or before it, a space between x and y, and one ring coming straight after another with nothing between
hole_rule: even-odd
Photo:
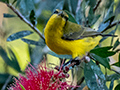
<instances>
[{"instance_id":1,"label":"broad blue-green leaf hanging down in the lower right, below the bird's tail","mask_svg":"<svg viewBox=\"0 0 120 90\"><path fill-rule=\"evenodd\" d=\"M105 85L104 74L92 60L89 63L85 63L84 76L90 90L108 90Z\"/></svg>"}]
</instances>

